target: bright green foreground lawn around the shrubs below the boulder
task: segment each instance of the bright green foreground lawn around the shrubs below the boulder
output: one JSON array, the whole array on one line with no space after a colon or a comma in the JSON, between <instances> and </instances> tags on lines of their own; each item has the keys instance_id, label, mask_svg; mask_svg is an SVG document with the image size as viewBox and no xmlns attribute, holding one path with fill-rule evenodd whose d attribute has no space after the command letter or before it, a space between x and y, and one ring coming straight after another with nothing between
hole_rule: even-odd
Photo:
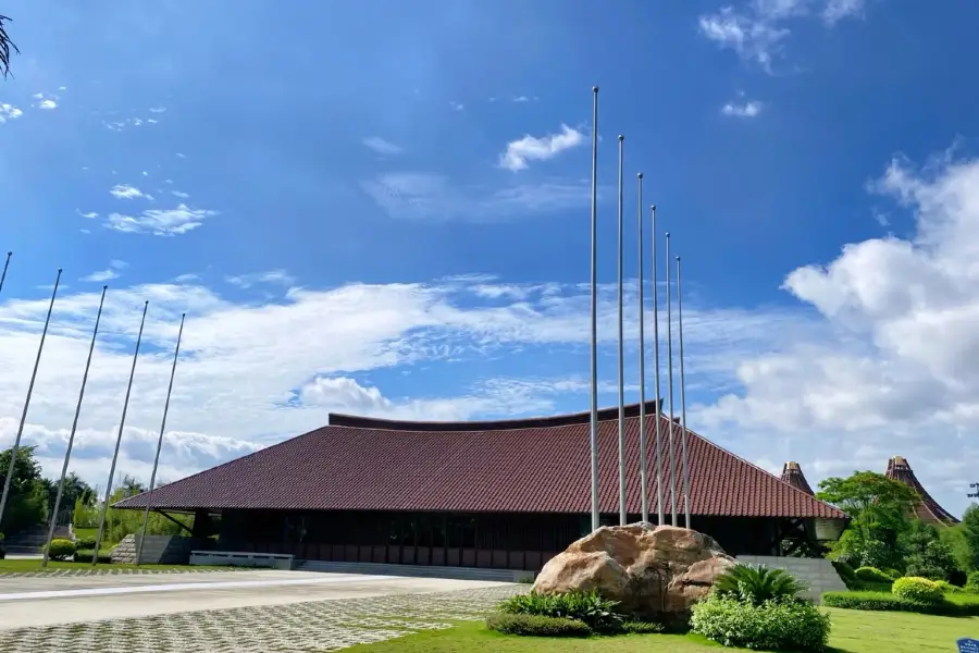
<instances>
[{"instance_id":1,"label":"bright green foreground lawn around the shrubs below the boulder","mask_svg":"<svg viewBox=\"0 0 979 653\"><path fill-rule=\"evenodd\" d=\"M958 619L908 613L833 609L830 643L837 653L951 653L961 637L979 638L979 617ZM642 634L614 638L545 639L507 637L466 623L347 649L350 653L719 653L696 636Z\"/></svg>"}]
</instances>

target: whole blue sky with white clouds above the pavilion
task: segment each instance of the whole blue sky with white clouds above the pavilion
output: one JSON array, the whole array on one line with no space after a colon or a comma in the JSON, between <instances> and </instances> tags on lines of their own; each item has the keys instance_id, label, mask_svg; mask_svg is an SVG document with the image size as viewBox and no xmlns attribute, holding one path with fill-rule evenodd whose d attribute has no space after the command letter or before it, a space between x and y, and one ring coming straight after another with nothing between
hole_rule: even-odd
<instances>
[{"instance_id":1,"label":"whole blue sky with white clouds above the pavilion","mask_svg":"<svg viewBox=\"0 0 979 653\"><path fill-rule=\"evenodd\" d=\"M658 231L684 257L694 428L769 469L797 459L813 482L904 455L953 512L979 480L979 90L959 63L979 56L979 8L35 1L3 13L22 53L0 83L0 249L15 252L0 294L0 444L61 266L24 439L52 473L103 283L73 464L95 483L147 299L122 463L136 476L149 476L184 311L170 480L330 410L585 409L598 84L603 403L617 401L623 134L630 401L642 171Z\"/></svg>"}]
</instances>

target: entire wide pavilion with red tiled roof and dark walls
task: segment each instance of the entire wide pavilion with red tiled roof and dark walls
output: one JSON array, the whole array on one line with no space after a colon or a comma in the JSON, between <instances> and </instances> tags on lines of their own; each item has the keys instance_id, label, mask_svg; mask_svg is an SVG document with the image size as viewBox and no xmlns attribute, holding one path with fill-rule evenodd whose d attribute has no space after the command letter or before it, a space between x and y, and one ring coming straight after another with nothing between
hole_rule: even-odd
<instances>
[{"instance_id":1,"label":"entire wide pavilion with red tiled roof and dark walls","mask_svg":"<svg viewBox=\"0 0 979 653\"><path fill-rule=\"evenodd\" d=\"M670 523L672 427L678 525L679 423L646 407L649 517L661 488ZM627 510L641 518L640 405L625 410ZM619 521L618 408L599 411L599 508ZM656 456L656 420L662 436ZM689 431L690 526L732 555L818 549L847 517L811 491ZM303 560L536 571L591 530L590 414L473 422L330 416L330 423L114 507L195 515L223 551ZM801 470L800 470L801 473ZM657 479L661 479L661 485Z\"/></svg>"}]
</instances>

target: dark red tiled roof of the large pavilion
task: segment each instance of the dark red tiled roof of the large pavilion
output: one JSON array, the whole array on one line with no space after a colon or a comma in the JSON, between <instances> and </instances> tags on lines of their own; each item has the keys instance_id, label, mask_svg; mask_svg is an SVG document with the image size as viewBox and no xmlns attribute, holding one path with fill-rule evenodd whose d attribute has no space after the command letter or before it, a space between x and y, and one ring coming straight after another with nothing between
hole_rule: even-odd
<instances>
[{"instance_id":1,"label":"dark red tiled roof of the large pavilion","mask_svg":"<svg viewBox=\"0 0 979 653\"><path fill-rule=\"evenodd\" d=\"M650 403L652 404L652 403ZM650 406L652 412L652 406ZM629 414L637 412L637 405ZM618 513L618 420L599 422L599 507ZM612 417L612 419L607 419ZM591 512L587 412L508 422L432 424L331 416L331 424L124 500L120 508ZM655 416L648 416L648 493L656 514ZM669 427L662 418L664 503ZM628 509L639 514L639 418L627 420ZM340 426L340 424L350 426ZM522 428L516 428L521 426ZM679 434L676 426L678 469ZM690 432L691 513L843 519L767 471ZM682 478L678 475L678 478ZM678 510L683 510L682 495Z\"/></svg>"}]
</instances>

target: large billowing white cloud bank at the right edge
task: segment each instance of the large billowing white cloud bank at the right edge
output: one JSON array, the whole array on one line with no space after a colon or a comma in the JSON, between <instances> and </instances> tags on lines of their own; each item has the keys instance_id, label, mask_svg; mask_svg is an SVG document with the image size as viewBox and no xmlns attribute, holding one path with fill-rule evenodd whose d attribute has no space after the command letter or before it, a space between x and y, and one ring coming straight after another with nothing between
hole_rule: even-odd
<instances>
[{"instance_id":1,"label":"large billowing white cloud bank at the right edge","mask_svg":"<svg viewBox=\"0 0 979 653\"><path fill-rule=\"evenodd\" d=\"M913 212L914 235L789 274L784 288L833 336L746 358L741 391L699 418L745 438L774 429L823 473L904 455L961 506L979 463L979 441L963 435L979 429L979 159L895 159L871 188Z\"/></svg>"}]
</instances>

